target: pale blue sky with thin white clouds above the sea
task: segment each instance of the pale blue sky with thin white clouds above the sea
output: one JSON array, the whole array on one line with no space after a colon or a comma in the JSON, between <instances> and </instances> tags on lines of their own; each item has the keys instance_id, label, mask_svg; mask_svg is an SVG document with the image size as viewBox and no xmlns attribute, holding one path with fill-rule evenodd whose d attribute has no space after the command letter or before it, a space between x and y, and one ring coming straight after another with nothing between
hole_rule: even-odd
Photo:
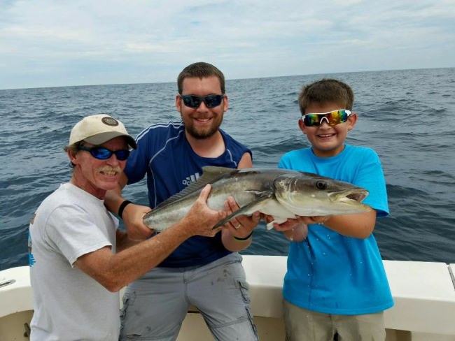
<instances>
[{"instance_id":1,"label":"pale blue sky with thin white clouds above the sea","mask_svg":"<svg viewBox=\"0 0 455 341\"><path fill-rule=\"evenodd\" d=\"M455 0L0 0L0 89L455 66Z\"/></svg>"}]
</instances>

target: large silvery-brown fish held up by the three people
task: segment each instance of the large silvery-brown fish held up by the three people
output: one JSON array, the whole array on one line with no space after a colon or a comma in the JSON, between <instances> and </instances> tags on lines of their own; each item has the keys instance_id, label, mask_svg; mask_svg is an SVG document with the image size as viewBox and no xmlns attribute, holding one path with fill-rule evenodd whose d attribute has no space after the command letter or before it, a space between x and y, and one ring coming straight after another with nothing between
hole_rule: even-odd
<instances>
[{"instance_id":1,"label":"large silvery-brown fish held up by the three people","mask_svg":"<svg viewBox=\"0 0 455 341\"><path fill-rule=\"evenodd\" d=\"M267 224L267 228L272 228L274 222L280 224L296 215L347 215L371 210L360 203L368 195L366 189L328 177L280 168L206 166L202 170L197 182L148 212L144 224L158 232L172 226L188 213L208 183L212 187L207 200L210 208L223 210L228 196L233 196L240 207L214 228L255 211L272 215L274 221Z\"/></svg>"}]
</instances>

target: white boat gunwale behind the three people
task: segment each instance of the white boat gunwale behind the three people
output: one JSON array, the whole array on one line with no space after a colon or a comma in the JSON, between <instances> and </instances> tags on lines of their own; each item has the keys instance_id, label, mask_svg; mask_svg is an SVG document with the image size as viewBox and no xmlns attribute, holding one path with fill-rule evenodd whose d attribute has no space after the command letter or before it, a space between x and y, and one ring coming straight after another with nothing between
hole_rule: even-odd
<instances>
[{"instance_id":1,"label":"white boat gunwale behind the three people","mask_svg":"<svg viewBox=\"0 0 455 341\"><path fill-rule=\"evenodd\" d=\"M277 340L277 335L281 338L283 333L281 289L287 257L243 257L250 285L251 310L261 341ZM384 313L387 340L455 340L455 264L421 261L383 263L395 301L395 305ZM22 340L10 335L14 332L23 337L27 331L25 324L29 324L32 312L29 267L0 271L0 340ZM18 319L20 321L16 321ZM179 336L179 341L211 340L208 331L200 331L192 338L191 334L197 329L195 324L204 325L200 314L192 309L183 323L181 335L185 336ZM262 330L267 328L269 331ZM405 334L402 331L406 331ZM201 335L207 336L201 338ZM406 336L400 338L400 335Z\"/></svg>"}]
</instances>

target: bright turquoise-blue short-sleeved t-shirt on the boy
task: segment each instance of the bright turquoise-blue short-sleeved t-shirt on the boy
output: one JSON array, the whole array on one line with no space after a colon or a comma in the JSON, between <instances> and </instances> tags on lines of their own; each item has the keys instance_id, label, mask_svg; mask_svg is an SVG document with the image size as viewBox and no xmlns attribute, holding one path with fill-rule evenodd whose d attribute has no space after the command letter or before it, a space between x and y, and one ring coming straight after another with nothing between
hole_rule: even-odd
<instances>
[{"instance_id":1,"label":"bright turquoise-blue short-sleeved t-shirt on the boy","mask_svg":"<svg viewBox=\"0 0 455 341\"><path fill-rule=\"evenodd\" d=\"M346 145L335 157L316 157L311 147L281 157L279 168L351 182L370 194L363 203L388 215L384 173L374 150ZM326 314L371 314L393 306L381 255L373 235L351 238L318 224L302 242L291 242L283 297Z\"/></svg>"}]
</instances>

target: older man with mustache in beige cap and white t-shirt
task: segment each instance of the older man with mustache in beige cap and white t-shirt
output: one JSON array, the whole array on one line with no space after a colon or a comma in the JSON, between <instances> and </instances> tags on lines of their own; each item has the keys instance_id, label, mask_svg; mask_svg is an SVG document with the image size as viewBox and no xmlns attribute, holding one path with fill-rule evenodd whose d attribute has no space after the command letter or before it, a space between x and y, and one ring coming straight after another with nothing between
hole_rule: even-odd
<instances>
[{"instance_id":1,"label":"older man with mustache in beige cap and white t-shirt","mask_svg":"<svg viewBox=\"0 0 455 341\"><path fill-rule=\"evenodd\" d=\"M109 115L83 118L72 129L73 175L31 219L30 275L34 292L31 340L118 340L118 291L155 267L193 235L213 236L225 212L207 206L207 186L181 222L144 242L131 242L104 207L137 145Z\"/></svg>"}]
</instances>

